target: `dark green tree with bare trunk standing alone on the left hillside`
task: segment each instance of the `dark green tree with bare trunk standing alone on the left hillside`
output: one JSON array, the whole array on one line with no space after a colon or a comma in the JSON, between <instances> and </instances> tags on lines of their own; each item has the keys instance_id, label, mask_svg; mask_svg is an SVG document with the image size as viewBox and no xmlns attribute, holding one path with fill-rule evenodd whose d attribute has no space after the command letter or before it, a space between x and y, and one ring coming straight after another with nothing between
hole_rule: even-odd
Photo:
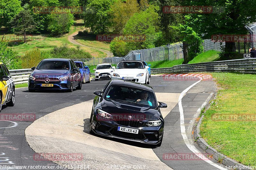
<instances>
[{"instance_id":1,"label":"dark green tree with bare trunk standing alone on the left hillside","mask_svg":"<svg viewBox=\"0 0 256 170\"><path fill-rule=\"evenodd\" d=\"M24 43L26 42L26 33L31 33L35 29L35 21L30 10L23 9L9 22L16 35L24 34Z\"/></svg>"}]
</instances>

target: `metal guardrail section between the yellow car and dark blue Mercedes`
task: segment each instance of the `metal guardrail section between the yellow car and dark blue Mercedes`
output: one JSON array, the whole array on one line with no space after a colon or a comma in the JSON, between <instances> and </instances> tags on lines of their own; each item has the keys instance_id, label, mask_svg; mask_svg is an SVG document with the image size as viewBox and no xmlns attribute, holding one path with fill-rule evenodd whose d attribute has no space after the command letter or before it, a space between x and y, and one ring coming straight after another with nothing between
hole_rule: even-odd
<instances>
[{"instance_id":1,"label":"metal guardrail section between the yellow car and dark blue Mercedes","mask_svg":"<svg viewBox=\"0 0 256 170\"><path fill-rule=\"evenodd\" d=\"M28 82L28 76L32 73L31 69L19 69L19 70L9 70L14 84L21 84Z\"/></svg>"}]
</instances>

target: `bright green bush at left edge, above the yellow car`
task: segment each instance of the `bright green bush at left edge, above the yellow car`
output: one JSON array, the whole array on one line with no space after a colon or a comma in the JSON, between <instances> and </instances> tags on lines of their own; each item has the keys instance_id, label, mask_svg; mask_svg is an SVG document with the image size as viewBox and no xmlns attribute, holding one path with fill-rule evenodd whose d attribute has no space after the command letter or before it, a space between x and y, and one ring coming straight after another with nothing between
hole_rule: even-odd
<instances>
[{"instance_id":1,"label":"bright green bush at left edge, above the yellow car","mask_svg":"<svg viewBox=\"0 0 256 170\"><path fill-rule=\"evenodd\" d=\"M21 69L21 60L18 57L18 53L8 48L8 41L3 39L4 37L0 39L0 61L10 70Z\"/></svg>"}]
</instances>

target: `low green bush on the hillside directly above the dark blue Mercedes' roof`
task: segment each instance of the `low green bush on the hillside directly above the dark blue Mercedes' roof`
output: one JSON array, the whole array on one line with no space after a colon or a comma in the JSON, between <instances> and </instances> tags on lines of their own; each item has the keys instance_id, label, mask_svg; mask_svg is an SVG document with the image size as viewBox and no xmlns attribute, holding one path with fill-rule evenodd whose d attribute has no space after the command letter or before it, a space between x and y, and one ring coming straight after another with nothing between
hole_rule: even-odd
<instances>
[{"instance_id":1,"label":"low green bush on the hillside directly above the dark blue Mercedes' roof","mask_svg":"<svg viewBox=\"0 0 256 170\"><path fill-rule=\"evenodd\" d=\"M55 47L51 54L55 58L92 58L90 53L80 48L68 48L66 44L61 47Z\"/></svg>"}]
</instances>

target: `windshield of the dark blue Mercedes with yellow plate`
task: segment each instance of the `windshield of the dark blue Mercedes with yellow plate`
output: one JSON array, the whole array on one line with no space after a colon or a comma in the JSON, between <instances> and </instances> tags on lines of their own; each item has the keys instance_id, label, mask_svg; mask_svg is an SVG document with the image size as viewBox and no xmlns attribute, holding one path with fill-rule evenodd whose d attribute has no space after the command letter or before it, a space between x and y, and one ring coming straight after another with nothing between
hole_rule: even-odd
<instances>
[{"instance_id":1,"label":"windshield of the dark blue Mercedes with yellow plate","mask_svg":"<svg viewBox=\"0 0 256 170\"><path fill-rule=\"evenodd\" d=\"M68 70L69 64L67 61L42 61L36 69Z\"/></svg>"}]
</instances>

